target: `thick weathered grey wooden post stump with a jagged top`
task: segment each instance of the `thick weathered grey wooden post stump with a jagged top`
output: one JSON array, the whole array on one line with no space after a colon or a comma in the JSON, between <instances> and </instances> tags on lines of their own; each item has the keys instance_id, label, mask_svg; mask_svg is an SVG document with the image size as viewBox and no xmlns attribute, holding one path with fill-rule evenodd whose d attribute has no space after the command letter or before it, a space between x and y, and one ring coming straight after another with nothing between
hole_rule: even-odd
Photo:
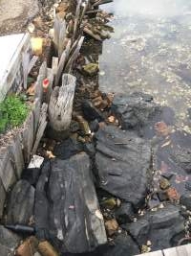
<instances>
[{"instance_id":1,"label":"thick weathered grey wooden post stump with a jagged top","mask_svg":"<svg viewBox=\"0 0 191 256\"><path fill-rule=\"evenodd\" d=\"M49 105L49 120L53 130L67 130L71 124L75 77L64 74L62 86L54 87Z\"/></svg>"}]
</instances>

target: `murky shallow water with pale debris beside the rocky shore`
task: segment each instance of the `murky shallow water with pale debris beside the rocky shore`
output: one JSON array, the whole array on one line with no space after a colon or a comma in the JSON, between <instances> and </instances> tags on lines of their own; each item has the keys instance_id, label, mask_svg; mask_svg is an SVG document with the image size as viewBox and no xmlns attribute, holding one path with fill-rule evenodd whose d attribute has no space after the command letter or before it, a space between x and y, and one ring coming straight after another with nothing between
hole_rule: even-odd
<instances>
[{"instance_id":1,"label":"murky shallow water with pale debris beside the rocky shore","mask_svg":"<svg viewBox=\"0 0 191 256\"><path fill-rule=\"evenodd\" d=\"M191 178L174 160L179 150L191 148L191 2L115 0L104 8L114 13L115 33L103 43L99 86L106 92L143 91L172 108L165 120L172 120L171 132L158 143L156 168L174 174L181 194Z\"/></svg>"}]
</instances>

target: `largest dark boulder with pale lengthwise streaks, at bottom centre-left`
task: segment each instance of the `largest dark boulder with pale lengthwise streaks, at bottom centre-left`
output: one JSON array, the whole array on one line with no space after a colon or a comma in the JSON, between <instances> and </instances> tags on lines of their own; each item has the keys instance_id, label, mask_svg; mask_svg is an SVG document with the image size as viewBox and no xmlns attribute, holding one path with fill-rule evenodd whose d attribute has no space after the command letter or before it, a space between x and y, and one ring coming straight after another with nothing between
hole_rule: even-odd
<instances>
[{"instance_id":1,"label":"largest dark boulder with pale lengthwise streaks, at bottom centre-left","mask_svg":"<svg viewBox=\"0 0 191 256\"><path fill-rule=\"evenodd\" d=\"M83 253L107 242L86 153L53 159L36 187L37 230L49 230L60 252Z\"/></svg>"}]
</instances>

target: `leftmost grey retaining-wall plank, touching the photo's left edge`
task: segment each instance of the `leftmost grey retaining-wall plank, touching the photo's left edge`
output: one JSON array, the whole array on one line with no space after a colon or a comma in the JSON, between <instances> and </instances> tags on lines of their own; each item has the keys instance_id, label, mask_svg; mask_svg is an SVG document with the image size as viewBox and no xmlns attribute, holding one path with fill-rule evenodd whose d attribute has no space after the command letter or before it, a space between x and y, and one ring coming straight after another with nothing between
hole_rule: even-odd
<instances>
[{"instance_id":1,"label":"leftmost grey retaining-wall plank, touching the photo's left edge","mask_svg":"<svg viewBox=\"0 0 191 256\"><path fill-rule=\"evenodd\" d=\"M16 181L16 176L11 166L10 152L7 148L2 149L0 153L0 178L6 192Z\"/></svg>"}]
</instances>

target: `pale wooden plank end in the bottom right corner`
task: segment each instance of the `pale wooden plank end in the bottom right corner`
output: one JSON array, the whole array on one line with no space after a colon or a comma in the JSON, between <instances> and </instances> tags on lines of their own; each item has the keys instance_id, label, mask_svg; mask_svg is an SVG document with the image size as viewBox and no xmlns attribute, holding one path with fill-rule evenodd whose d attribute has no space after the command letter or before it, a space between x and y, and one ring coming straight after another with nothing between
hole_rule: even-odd
<instances>
[{"instance_id":1,"label":"pale wooden plank end in the bottom right corner","mask_svg":"<svg viewBox=\"0 0 191 256\"><path fill-rule=\"evenodd\" d=\"M190 256L191 244L181 245L174 248L163 250L164 256Z\"/></svg>"}]
</instances>

